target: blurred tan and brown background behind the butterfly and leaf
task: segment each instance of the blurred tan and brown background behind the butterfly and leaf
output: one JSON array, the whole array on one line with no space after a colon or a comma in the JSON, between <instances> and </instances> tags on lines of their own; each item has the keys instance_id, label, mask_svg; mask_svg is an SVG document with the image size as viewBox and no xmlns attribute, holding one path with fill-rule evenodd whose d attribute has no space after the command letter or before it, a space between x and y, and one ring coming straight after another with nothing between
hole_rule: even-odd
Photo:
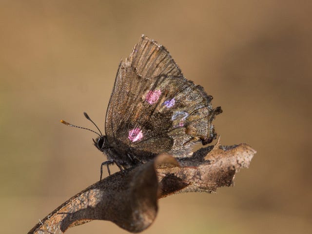
<instances>
[{"instance_id":1,"label":"blurred tan and brown background behind the butterfly and leaf","mask_svg":"<svg viewBox=\"0 0 312 234\"><path fill-rule=\"evenodd\" d=\"M59 119L94 129L86 111L103 129L120 58L145 34L222 107L222 144L257 150L234 187L161 199L145 233L311 232L308 2L1 1L1 231L27 233L98 180L95 135ZM67 233L126 232L93 221Z\"/></svg>"}]
</instances>

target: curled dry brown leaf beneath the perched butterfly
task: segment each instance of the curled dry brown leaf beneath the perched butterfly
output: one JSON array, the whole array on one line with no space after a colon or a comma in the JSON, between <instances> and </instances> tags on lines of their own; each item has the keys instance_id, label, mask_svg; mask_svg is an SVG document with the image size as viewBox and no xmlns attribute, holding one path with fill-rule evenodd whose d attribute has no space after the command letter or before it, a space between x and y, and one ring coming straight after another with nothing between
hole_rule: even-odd
<instances>
[{"instance_id":1,"label":"curled dry brown leaf beneath the perched butterfly","mask_svg":"<svg viewBox=\"0 0 312 234\"><path fill-rule=\"evenodd\" d=\"M113 174L86 188L41 220L29 234L63 233L95 219L109 220L138 233L157 214L157 199L185 192L215 192L232 186L236 172L256 152L247 144L209 146L192 157L157 156L143 165Z\"/></svg>"}]
</instances>

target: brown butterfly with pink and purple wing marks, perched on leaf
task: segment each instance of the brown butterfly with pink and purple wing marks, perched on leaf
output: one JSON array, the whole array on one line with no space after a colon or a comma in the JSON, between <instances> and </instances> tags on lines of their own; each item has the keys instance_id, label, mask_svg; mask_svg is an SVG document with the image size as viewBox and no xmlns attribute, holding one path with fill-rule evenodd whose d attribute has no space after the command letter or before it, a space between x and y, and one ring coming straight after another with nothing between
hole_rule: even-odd
<instances>
[{"instance_id":1,"label":"brown butterfly with pink and purple wing marks, perched on leaf","mask_svg":"<svg viewBox=\"0 0 312 234\"><path fill-rule=\"evenodd\" d=\"M105 135L84 113L100 132L94 145L107 156L100 179L104 165L110 175L114 163L123 170L161 153L189 157L195 143L211 143L216 138L212 121L222 112L219 106L213 108L212 99L183 76L164 46L142 35L129 58L119 63Z\"/></svg>"}]
</instances>

